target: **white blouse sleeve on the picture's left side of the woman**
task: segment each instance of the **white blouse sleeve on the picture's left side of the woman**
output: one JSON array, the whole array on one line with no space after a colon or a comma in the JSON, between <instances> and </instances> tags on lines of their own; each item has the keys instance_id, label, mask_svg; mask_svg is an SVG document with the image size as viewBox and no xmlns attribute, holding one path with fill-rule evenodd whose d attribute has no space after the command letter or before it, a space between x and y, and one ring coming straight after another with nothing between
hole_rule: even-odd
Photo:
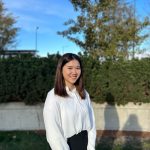
<instances>
[{"instance_id":1,"label":"white blouse sleeve on the picture's left side of the woman","mask_svg":"<svg viewBox=\"0 0 150 150\"><path fill-rule=\"evenodd\" d=\"M57 102L48 94L43 109L46 138L52 150L70 150L61 128L61 116Z\"/></svg>"}]
</instances>

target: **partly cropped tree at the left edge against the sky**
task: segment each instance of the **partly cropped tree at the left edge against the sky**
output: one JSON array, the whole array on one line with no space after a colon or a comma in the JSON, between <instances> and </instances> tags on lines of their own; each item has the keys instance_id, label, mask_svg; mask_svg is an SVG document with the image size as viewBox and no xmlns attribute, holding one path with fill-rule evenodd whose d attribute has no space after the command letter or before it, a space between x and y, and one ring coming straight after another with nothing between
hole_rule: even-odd
<instances>
[{"instance_id":1,"label":"partly cropped tree at the left edge against the sky","mask_svg":"<svg viewBox=\"0 0 150 150\"><path fill-rule=\"evenodd\" d=\"M0 51L7 50L9 46L15 44L15 36L18 28L14 27L15 18L11 13L7 13L4 3L0 0Z\"/></svg>"}]
</instances>

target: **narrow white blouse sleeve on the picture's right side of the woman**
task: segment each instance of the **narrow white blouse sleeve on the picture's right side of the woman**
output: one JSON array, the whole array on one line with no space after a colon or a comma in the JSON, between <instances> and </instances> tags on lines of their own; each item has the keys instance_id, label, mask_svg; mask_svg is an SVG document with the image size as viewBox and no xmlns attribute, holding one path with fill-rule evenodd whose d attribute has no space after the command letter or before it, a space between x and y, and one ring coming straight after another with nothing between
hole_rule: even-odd
<instances>
[{"instance_id":1,"label":"narrow white blouse sleeve on the picture's right side of the woman","mask_svg":"<svg viewBox=\"0 0 150 150\"><path fill-rule=\"evenodd\" d=\"M95 127L95 116L93 107L91 104L91 100L88 95L89 101L89 109L90 109L90 121L92 124L92 128L88 131L88 147L87 150L95 150L95 142L96 142L96 127Z\"/></svg>"}]
</instances>

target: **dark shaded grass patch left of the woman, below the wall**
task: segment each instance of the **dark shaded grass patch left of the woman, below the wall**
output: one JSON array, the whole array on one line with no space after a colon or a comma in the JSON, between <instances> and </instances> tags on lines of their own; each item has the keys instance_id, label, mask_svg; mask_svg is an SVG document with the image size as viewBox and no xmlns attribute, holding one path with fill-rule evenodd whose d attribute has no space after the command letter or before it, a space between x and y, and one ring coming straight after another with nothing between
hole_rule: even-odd
<instances>
[{"instance_id":1,"label":"dark shaded grass patch left of the woman, below the wall","mask_svg":"<svg viewBox=\"0 0 150 150\"><path fill-rule=\"evenodd\" d=\"M45 135L29 131L0 132L0 150L50 150Z\"/></svg>"}]
</instances>

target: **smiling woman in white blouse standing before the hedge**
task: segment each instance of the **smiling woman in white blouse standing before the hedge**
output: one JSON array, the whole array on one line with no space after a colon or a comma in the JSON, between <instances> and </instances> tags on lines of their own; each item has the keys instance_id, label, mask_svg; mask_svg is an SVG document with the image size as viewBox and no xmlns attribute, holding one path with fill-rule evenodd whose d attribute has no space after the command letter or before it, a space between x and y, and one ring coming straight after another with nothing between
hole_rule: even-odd
<instances>
[{"instance_id":1,"label":"smiling woman in white blouse standing before the hedge","mask_svg":"<svg viewBox=\"0 0 150 150\"><path fill-rule=\"evenodd\" d=\"M77 55L66 53L60 58L54 89L47 95L43 115L52 150L95 150L94 113Z\"/></svg>"}]
</instances>

